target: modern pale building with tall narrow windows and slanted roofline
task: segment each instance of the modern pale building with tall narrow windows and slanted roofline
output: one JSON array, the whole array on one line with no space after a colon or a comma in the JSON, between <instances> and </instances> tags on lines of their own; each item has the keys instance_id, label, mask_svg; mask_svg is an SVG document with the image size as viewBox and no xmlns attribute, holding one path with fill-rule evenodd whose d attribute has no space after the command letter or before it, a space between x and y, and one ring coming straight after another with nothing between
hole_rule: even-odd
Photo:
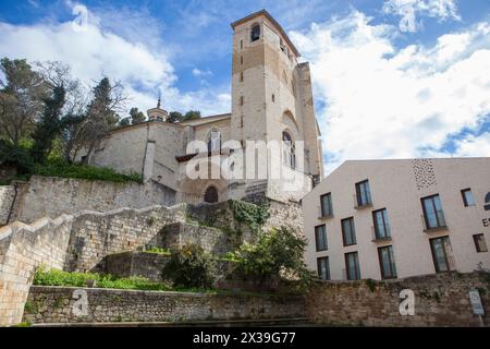
<instances>
[{"instance_id":1,"label":"modern pale building with tall narrow windows and slanted roofline","mask_svg":"<svg viewBox=\"0 0 490 349\"><path fill-rule=\"evenodd\" d=\"M303 212L324 279L490 269L490 158L346 161Z\"/></svg>"}]
</instances>

